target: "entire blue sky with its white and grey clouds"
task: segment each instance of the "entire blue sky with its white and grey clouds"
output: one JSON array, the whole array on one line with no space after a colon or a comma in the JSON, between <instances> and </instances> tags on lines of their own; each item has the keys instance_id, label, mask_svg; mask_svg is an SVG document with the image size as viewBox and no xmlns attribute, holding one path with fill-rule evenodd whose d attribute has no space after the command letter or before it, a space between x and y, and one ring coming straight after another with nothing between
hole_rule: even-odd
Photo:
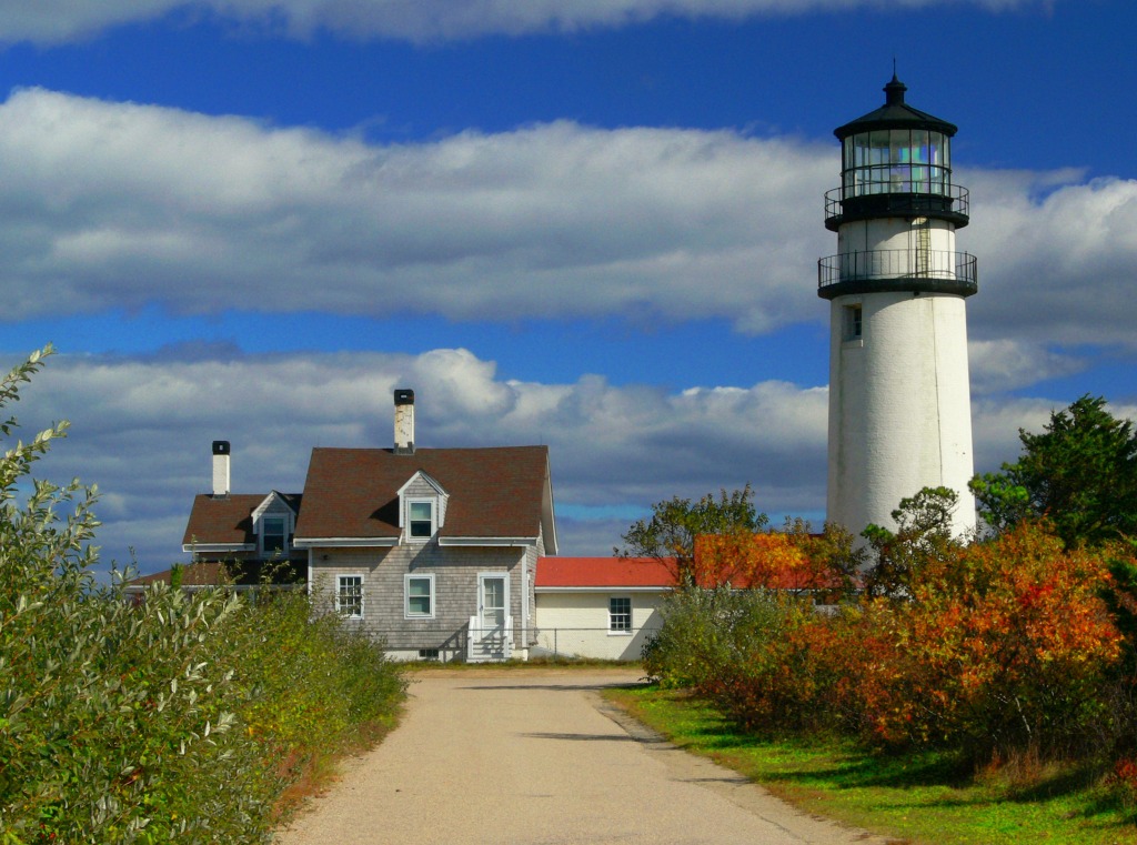
<instances>
[{"instance_id":1,"label":"entire blue sky with its white and grey clouds","mask_svg":"<svg viewBox=\"0 0 1137 845\"><path fill-rule=\"evenodd\" d=\"M832 129L960 126L977 470L1085 392L1137 409L1129 0L0 2L2 351L97 482L106 560L182 560L312 446L548 444L562 552L754 483L824 508ZM25 433L31 433L25 432Z\"/></svg>"}]
</instances>

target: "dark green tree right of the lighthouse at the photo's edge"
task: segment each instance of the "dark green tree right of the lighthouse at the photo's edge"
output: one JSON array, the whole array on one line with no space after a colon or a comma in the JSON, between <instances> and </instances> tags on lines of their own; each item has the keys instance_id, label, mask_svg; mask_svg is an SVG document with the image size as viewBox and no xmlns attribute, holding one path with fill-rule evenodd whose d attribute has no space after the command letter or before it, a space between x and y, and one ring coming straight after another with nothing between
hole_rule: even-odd
<instances>
[{"instance_id":1,"label":"dark green tree right of the lighthouse at the photo's edge","mask_svg":"<svg viewBox=\"0 0 1137 845\"><path fill-rule=\"evenodd\" d=\"M1019 430L1022 455L971 481L996 533L1045 517L1068 547L1137 535L1137 436L1102 397L1051 414L1040 434Z\"/></svg>"}]
</instances>

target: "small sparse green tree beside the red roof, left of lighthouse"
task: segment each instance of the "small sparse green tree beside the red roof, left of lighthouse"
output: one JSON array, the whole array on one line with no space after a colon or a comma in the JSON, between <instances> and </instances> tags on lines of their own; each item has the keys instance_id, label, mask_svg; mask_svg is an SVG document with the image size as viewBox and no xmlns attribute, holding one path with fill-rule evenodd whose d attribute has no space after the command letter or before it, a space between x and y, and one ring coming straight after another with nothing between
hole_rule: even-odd
<instances>
[{"instance_id":1,"label":"small sparse green tree beside the red roof, left of lighthouse","mask_svg":"<svg viewBox=\"0 0 1137 845\"><path fill-rule=\"evenodd\" d=\"M652 505L650 519L639 520L622 535L623 547L613 552L620 557L654 557L674 566L675 583L691 582L695 538L699 535L755 533L770 524L754 507L754 490L720 490L692 502L674 496Z\"/></svg>"}]
</instances>

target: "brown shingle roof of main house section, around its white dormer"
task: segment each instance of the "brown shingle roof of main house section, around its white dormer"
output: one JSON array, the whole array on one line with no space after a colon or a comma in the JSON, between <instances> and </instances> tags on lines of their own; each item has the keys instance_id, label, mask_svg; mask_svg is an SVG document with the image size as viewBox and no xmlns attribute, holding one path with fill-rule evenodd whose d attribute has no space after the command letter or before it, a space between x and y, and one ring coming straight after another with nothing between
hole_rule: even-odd
<instances>
[{"instance_id":1,"label":"brown shingle roof of main house section, around its white dormer","mask_svg":"<svg viewBox=\"0 0 1137 845\"><path fill-rule=\"evenodd\" d=\"M549 454L545 446L474 449L315 448L297 541L399 537L398 491L425 472L449 495L439 540L536 538L556 552Z\"/></svg>"}]
</instances>

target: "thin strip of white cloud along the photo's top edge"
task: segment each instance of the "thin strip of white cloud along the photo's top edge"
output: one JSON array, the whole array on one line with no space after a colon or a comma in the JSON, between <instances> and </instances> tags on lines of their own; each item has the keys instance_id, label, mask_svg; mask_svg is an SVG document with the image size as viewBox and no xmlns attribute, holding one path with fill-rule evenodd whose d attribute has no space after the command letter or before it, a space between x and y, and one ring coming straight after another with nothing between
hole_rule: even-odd
<instances>
[{"instance_id":1,"label":"thin strip of white cloud along the photo's top edge","mask_svg":"<svg viewBox=\"0 0 1137 845\"><path fill-rule=\"evenodd\" d=\"M491 33L574 32L656 17L795 15L863 7L913 9L968 3L991 10L1053 0L3 0L0 41L56 43L88 38L165 15L213 16L292 38L319 30L346 38L409 41L468 39Z\"/></svg>"}]
</instances>

